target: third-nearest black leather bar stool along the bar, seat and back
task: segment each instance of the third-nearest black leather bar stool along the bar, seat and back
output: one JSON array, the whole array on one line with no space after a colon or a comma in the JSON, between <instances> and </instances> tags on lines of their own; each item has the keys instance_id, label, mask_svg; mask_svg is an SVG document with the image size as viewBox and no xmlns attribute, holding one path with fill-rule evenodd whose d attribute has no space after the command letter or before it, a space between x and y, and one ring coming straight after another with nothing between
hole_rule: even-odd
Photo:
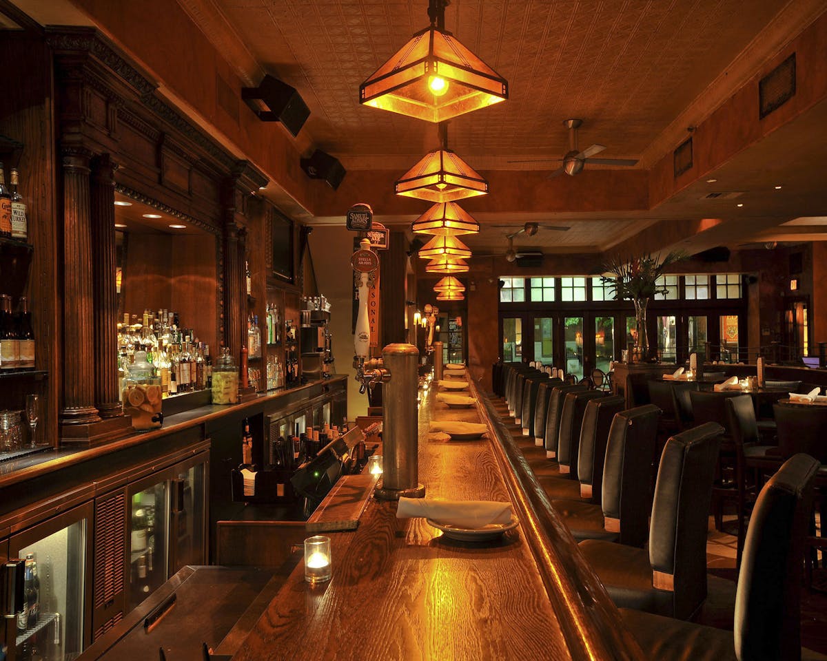
<instances>
[{"instance_id":1,"label":"third-nearest black leather bar stool along the bar, seat and back","mask_svg":"<svg viewBox=\"0 0 827 661\"><path fill-rule=\"evenodd\" d=\"M552 501L576 540L605 540L636 547L646 541L649 457L660 414L659 408L646 404L614 416L606 445L600 505Z\"/></svg>"}]
</instances>

